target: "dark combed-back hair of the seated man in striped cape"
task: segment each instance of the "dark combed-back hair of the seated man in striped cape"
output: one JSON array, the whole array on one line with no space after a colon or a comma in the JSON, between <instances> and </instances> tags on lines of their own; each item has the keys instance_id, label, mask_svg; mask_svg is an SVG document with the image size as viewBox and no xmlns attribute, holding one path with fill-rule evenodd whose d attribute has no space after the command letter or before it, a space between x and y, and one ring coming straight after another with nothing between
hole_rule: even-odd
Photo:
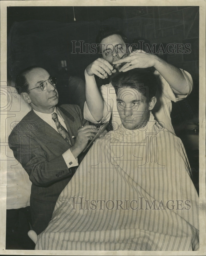
<instances>
[{"instance_id":1,"label":"dark combed-back hair of the seated man in striped cape","mask_svg":"<svg viewBox=\"0 0 206 256\"><path fill-rule=\"evenodd\" d=\"M158 81L153 72L147 69L135 68L126 72L120 72L111 80L117 94L120 87L136 88L145 97L148 97L148 102L155 96ZM147 88L144 90L144 88Z\"/></svg>"}]
</instances>

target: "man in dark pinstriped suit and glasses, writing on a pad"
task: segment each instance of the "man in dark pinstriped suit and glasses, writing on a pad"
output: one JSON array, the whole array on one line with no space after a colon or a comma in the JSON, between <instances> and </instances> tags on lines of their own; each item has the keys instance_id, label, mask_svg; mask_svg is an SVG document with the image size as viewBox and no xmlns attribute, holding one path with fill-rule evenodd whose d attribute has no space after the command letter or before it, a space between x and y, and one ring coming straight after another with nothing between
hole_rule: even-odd
<instances>
[{"instance_id":1,"label":"man in dark pinstriped suit and glasses, writing on a pad","mask_svg":"<svg viewBox=\"0 0 206 256\"><path fill-rule=\"evenodd\" d=\"M32 110L14 127L8 140L32 182L31 219L37 234L47 227L59 194L95 134L78 105L56 107L56 84L56 79L40 67L29 67L17 76L16 86Z\"/></svg>"}]
</instances>

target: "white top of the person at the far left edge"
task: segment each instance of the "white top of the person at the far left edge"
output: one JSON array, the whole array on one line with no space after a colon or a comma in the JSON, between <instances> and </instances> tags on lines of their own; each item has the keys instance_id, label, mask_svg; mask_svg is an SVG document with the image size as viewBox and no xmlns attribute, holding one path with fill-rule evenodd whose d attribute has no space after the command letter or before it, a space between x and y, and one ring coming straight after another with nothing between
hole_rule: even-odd
<instances>
[{"instance_id":1,"label":"white top of the person at the far left edge","mask_svg":"<svg viewBox=\"0 0 206 256\"><path fill-rule=\"evenodd\" d=\"M7 157L7 209L17 209L29 206L31 181L29 176L14 158L13 151L8 146L8 136L15 124L31 110L15 87L1 87L1 100L5 101L5 143ZM1 108L1 116L4 114Z\"/></svg>"}]
</instances>

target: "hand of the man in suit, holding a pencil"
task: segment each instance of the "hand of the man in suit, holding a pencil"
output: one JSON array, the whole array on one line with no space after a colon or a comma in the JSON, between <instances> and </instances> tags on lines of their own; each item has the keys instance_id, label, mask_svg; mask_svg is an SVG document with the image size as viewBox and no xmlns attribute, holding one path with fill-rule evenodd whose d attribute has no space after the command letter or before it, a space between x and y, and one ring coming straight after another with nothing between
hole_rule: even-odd
<instances>
[{"instance_id":1,"label":"hand of the man in suit, holding a pencil","mask_svg":"<svg viewBox=\"0 0 206 256\"><path fill-rule=\"evenodd\" d=\"M98 130L91 125L85 125L78 130L75 144L70 148L75 158L77 158L78 155L85 149L88 144L89 138L90 140L94 138L97 131Z\"/></svg>"}]
</instances>

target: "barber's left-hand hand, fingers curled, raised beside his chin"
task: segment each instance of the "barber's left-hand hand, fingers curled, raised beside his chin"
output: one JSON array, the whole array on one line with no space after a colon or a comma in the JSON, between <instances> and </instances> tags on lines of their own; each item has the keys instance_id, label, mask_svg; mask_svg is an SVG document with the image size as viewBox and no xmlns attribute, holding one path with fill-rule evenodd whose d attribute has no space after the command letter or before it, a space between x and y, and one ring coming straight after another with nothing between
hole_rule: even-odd
<instances>
[{"instance_id":1,"label":"barber's left-hand hand, fingers curled, raised beside his chin","mask_svg":"<svg viewBox=\"0 0 206 256\"><path fill-rule=\"evenodd\" d=\"M112 73L115 73L116 69L113 69L112 65L110 65L107 60L104 60L103 58L98 58L86 67L85 72L89 76L96 75L104 79L107 78L108 75L111 76Z\"/></svg>"}]
</instances>

